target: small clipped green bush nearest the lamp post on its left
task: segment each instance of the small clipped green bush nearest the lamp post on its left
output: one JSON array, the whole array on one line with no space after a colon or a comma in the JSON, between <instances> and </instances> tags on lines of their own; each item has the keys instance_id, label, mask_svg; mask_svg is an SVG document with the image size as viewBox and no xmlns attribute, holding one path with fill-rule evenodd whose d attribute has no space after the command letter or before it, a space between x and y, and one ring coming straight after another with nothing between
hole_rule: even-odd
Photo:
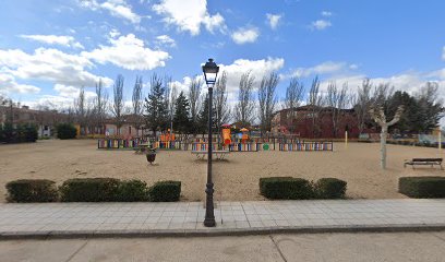
<instances>
[{"instance_id":1,"label":"small clipped green bush nearest the lamp post on its left","mask_svg":"<svg viewBox=\"0 0 445 262\"><path fill-rule=\"evenodd\" d=\"M148 189L152 202L175 202L181 195L181 181L159 181Z\"/></svg>"}]
</instances>

